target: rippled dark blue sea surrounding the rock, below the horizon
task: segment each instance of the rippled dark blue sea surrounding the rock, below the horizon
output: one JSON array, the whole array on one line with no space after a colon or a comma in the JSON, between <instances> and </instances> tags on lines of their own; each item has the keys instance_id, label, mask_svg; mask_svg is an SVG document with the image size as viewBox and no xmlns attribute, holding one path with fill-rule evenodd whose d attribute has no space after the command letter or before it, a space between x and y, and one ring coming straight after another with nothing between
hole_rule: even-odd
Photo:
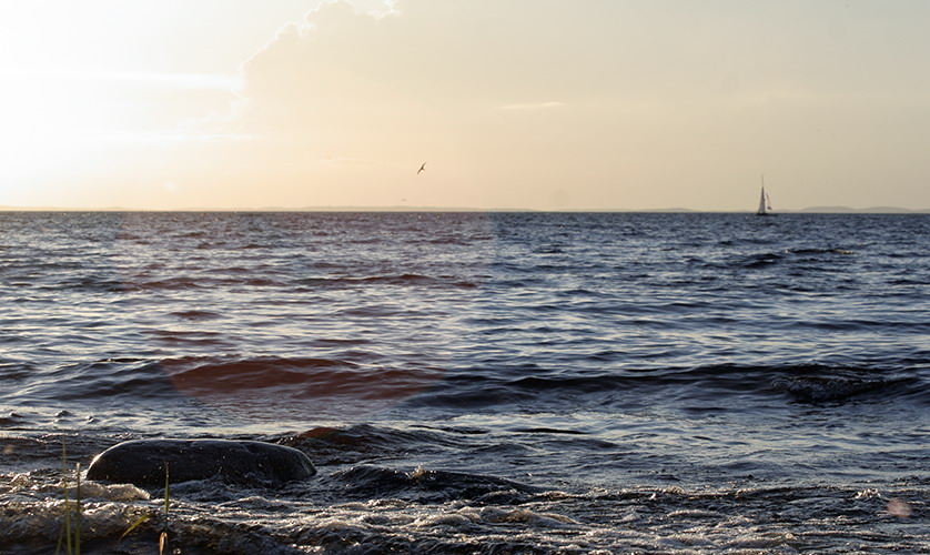
<instances>
[{"instance_id":1,"label":"rippled dark blue sea surrounding the rock, below the horizon","mask_svg":"<svg viewBox=\"0 0 930 555\"><path fill-rule=\"evenodd\" d=\"M2 212L0 300L0 553L930 553L930 214ZM164 437L317 473L87 478Z\"/></svg>"}]
</instances>

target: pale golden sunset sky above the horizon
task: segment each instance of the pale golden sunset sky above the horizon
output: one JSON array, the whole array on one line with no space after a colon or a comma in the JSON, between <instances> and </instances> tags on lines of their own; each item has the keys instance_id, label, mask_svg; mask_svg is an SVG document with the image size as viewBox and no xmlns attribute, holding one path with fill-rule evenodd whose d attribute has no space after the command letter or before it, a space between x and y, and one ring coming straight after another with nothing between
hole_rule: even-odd
<instances>
[{"instance_id":1,"label":"pale golden sunset sky above the horizon","mask_svg":"<svg viewBox=\"0 0 930 555\"><path fill-rule=\"evenodd\" d=\"M0 0L0 205L930 209L923 0ZM425 170L417 174L421 164Z\"/></svg>"}]
</instances>

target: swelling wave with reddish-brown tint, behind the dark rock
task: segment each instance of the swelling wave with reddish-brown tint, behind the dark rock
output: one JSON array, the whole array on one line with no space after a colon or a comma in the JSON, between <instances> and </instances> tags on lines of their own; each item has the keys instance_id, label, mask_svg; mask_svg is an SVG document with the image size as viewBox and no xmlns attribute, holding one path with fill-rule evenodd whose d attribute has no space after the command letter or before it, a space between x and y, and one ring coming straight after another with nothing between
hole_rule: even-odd
<instances>
[{"instance_id":1,"label":"swelling wave with reddish-brown tint, behind the dark rock","mask_svg":"<svg viewBox=\"0 0 930 555\"><path fill-rule=\"evenodd\" d=\"M13 398L30 403L80 402L131 405L152 400L193 396L206 402L269 408L293 402L314 406L405 398L434 383L436 369L362 366L338 359L182 357L107 359L87 364L34 371L6 364L4 382L16 381ZM269 411L272 412L272 411Z\"/></svg>"}]
</instances>

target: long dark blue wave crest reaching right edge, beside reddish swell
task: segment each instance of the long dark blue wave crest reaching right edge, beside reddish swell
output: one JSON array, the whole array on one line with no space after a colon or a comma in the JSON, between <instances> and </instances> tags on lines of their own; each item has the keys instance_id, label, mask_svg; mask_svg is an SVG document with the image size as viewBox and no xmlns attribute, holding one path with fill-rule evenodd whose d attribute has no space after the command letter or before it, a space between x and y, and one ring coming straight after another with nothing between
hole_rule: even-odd
<instances>
[{"instance_id":1,"label":"long dark blue wave crest reaching right edge, beside reddish swell","mask_svg":"<svg viewBox=\"0 0 930 555\"><path fill-rule=\"evenodd\" d=\"M881 370L821 364L782 366L711 365L685 370L616 373L548 373L508 377L502 373L457 372L443 387L413 403L456 408L498 404L558 403L640 405L656 403L726 404L750 398L784 403L888 402L930 405L928 369Z\"/></svg>"}]
</instances>

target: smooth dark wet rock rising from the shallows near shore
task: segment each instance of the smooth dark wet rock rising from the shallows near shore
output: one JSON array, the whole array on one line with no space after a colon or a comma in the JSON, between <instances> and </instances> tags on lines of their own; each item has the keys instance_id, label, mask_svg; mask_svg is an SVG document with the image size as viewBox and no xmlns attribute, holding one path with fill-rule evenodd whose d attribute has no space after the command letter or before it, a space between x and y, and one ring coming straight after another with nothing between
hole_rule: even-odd
<instances>
[{"instance_id":1,"label":"smooth dark wet rock rising from the shallows near shore","mask_svg":"<svg viewBox=\"0 0 930 555\"><path fill-rule=\"evenodd\" d=\"M88 480L135 485L219 477L236 484L280 485L316 474L310 458L293 447L265 442L230 440L135 440L98 455Z\"/></svg>"}]
</instances>

